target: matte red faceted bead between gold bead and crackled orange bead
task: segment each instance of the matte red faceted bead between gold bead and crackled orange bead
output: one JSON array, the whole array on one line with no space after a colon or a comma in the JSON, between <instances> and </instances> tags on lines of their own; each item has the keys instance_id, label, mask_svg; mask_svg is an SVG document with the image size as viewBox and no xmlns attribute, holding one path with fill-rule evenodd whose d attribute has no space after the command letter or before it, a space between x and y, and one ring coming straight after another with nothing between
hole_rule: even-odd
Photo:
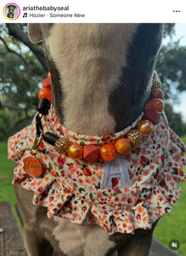
<instances>
[{"instance_id":1,"label":"matte red faceted bead between gold bead and crackled orange bead","mask_svg":"<svg viewBox=\"0 0 186 256\"><path fill-rule=\"evenodd\" d=\"M95 145L87 145L83 147L83 159L87 160L88 163L93 164L99 159L99 148Z\"/></svg>"}]
</instances>

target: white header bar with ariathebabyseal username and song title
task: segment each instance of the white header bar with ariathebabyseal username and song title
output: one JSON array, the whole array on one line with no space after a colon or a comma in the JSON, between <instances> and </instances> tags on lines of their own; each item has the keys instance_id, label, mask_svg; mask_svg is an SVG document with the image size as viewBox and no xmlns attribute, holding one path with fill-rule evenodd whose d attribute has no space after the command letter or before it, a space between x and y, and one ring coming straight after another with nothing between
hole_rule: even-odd
<instances>
[{"instance_id":1,"label":"white header bar with ariathebabyseal username and song title","mask_svg":"<svg viewBox=\"0 0 186 256\"><path fill-rule=\"evenodd\" d=\"M1 23L186 22L185 0L1 0L0 9Z\"/></svg>"}]
</instances>

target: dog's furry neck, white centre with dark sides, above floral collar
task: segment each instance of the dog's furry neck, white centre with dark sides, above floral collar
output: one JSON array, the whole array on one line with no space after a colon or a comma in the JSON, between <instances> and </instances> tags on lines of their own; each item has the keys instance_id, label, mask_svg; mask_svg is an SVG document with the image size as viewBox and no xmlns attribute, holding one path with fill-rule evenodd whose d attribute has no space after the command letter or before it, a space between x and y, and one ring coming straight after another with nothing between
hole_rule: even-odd
<instances>
[{"instance_id":1,"label":"dog's furry neck, white centre with dark sides, above floral collar","mask_svg":"<svg viewBox=\"0 0 186 256\"><path fill-rule=\"evenodd\" d=\"M150 52L145 60L147 53L139 48L149 36L145 38L145 33L136 24L53 27L45 45L54 109L61 124L70 131L104 135L138 118L149 99L160 44L159 39L155 54ZM143 44L145 51L147 43Z\"/></svg>"}]
</instances>

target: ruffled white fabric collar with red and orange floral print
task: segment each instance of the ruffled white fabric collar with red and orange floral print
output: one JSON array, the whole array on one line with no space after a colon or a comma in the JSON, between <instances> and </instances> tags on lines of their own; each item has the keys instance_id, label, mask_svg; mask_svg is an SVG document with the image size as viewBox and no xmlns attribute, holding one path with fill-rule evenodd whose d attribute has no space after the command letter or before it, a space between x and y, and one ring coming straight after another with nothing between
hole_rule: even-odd
<instances>
[{"instance_id":1,"label":"ruffled white fabric collar with red and orange floral print","mask_svg":"<svg viewBox=\"0 0 186 256\"><path fill-rule=\"evenodd\" d=\"M110 137L89 137L60 125L51 108L43 117L42 127L44 132L64 136L71 143L98 144L126 134L142 116ZM8 158L16 162L13 183L32 190L34 204L48 207L48 218L56 215L74 224L99 224L109 234L133 233L136 229L151 229L161 215L172 211L172 204L181 192L178 183L186 181L185 146L168 127L164 113L140 147L120 156L118 162L121 170L125 170L125 186L121 186L120 176L113 176L111 186L107 186L108 170L112 170L116 162L105 165L104 162L88 164L84 160L72 160L59 155L45 142L39 147L42 177L30 177L24 170L24 160L30 154L35 126L34 119L30 126L8 139Z\"/></svg>"}]
</instances>

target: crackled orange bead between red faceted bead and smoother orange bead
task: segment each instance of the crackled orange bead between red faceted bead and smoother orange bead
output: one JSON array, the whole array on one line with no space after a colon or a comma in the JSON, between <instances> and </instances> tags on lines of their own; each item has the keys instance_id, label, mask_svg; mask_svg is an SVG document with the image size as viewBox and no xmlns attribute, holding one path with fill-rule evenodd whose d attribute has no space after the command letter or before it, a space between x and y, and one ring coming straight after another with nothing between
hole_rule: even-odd
<instances>
[{"instance_id":1,"label":"crackled orange bead between red faceted bead and smoother orange bead","mask_svg":"<svg viewBox=\"0 0 186 256\"><path fill-rule=\"evenodd\" d=\"M103 144L99 148L99 156L104 161L110 161L116 157L116 148L114 144Z\"/></svg>"}]
</instances>

